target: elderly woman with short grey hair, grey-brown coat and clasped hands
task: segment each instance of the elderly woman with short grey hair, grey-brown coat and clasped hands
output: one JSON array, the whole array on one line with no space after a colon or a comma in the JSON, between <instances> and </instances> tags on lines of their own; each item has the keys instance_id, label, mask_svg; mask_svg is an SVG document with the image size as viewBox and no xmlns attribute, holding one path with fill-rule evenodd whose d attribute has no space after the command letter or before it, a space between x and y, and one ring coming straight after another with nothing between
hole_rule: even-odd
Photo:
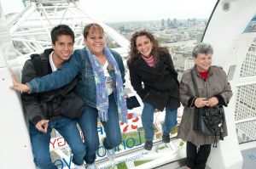
<instances>
[{"instance_id":1,"label":"elderly woman with short grey hair, grey-brown coat and clasped hands","mask_svg":"<svg viewBox=\"0 0 256 169\"><path fill-rule=\"evenodd\" d=\"M183 117L178 129L177 137L187 141L187 167L203 169L211 152L214 136L207 136L193 130L195 123L195 107L213 107L215 105L227 106L232 96L230 83L221 67L212 65L213 49L210 44L200 43L195 46L192 56L195 66L183 73L180 82L180 99L184 106ZM199 91L195 95L191 72ZM227 136L224 124L224 136ZM217 137L218 141L219 137Z\"/></svg>"}]
</instances>

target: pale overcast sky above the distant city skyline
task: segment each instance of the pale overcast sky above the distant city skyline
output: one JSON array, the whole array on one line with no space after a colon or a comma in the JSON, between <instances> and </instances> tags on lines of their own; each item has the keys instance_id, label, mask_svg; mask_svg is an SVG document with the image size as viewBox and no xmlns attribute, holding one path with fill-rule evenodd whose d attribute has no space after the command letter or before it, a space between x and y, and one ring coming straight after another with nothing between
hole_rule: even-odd
<instances>
[{"instance_id":1,"label":"pale overcast sky above the distant city skyline","mask_svg":"<svg viewBox=\"0 0 256 169\"><path fill-rule=\"evenodd\" d=\"M43 0L44 1L44 0ZM0 0L3 13L20 12L21 0ZM104 22L207 19L217 0L80 0L85 11Z\"/></svg>"}]
</instances>

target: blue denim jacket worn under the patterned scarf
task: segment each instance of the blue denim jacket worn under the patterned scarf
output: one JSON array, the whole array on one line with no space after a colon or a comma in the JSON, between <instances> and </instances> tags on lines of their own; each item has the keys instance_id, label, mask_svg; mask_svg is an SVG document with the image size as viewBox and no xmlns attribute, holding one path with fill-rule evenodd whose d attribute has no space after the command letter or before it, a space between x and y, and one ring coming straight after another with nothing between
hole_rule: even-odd
<instances>
[{"instance_id":1,"label":"blue denim jacket worn under the patterned scarf","mask_svg":"<svg viewBox=\"0 0 256 169\"><path fill-rule=\"evenodd\" d=\"M96 108L96 82L86 50L86 48L75 50L71 59L61 65L58 70L47 76L34 78L31 82L27 82L26 84L30 87L30 92L41 93L63 87L69 82L72 82L73 78L80 74L77 92L82 96L86 105ZM123 60L117 52L113 50L110 51L119 65L122 80L125 83L125 67ZM112 78L113 93L116 98L114 70L108 69L108 73Z\"/></svg>"}]
</instances>

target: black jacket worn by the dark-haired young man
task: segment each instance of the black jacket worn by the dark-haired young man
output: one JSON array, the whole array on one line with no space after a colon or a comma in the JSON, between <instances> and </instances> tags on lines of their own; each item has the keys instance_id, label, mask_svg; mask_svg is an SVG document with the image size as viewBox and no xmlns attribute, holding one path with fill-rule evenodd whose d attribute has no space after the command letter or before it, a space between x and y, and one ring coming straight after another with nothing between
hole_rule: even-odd
<instances>
[{"instance_id":1,"label":"black jacket worn by the dark-haired young man","mask_svg":"<svg viewBox=\"0 0 256 169\"><path fill-rule=\"evenodd\" d=\"M41 60L47 62L48 66L40 68L48 70L48 72L44 72L45 75L50 74L52 72L51 67L49 65L49 54L53 51L52 48L45 49L43 54L40 54ZM42 63L43 64L43 63ZM22 79L21 82L25 84L26 82L30 82L33 78L43 76L38 75L38 68L35 68L35 64L33 64L32 59L26 60L25 65L22 70ZM40 65L38 65L39 67ZM61 100L63 97L60 93L65 92L74 92L75 87L77 86L78 80L75 79L73 82L67 84L65 87L61 87L59 89L44 92L44 93L21 93L21 102L25 112L26 120L31 121L34 125L43 119L53 120L61 115Z\"/></svg>"}]
</instances>

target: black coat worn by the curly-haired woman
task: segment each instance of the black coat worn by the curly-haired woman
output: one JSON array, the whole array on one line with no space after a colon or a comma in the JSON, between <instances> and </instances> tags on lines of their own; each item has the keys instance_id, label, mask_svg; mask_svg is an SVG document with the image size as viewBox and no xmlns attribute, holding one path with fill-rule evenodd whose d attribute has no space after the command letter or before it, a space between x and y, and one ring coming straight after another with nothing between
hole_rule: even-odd
<instances>
[{"instance_id":1,"label":"black coat worn by the curly-haired woman","mask_svg":"<svg viewBox=\"0 0 256 169\"><path fill-rule=\"evenodd\" d=\"M142 57L128 61L127 65L131 86L143 102L152 104L158 110L164 110L166 106L174 110L180 106L177 71L170 54L160 53L160 59L154 67L150 67Z\"/></svg>"}]
</instances>

